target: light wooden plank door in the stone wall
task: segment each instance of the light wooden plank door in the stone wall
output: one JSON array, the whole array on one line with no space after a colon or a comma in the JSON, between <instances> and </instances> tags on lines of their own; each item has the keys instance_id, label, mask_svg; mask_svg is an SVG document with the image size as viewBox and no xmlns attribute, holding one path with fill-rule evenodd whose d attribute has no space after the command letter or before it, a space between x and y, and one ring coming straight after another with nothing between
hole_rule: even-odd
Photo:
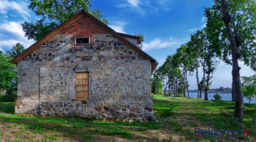
<instances>
[{"instance_id":1,"label":"light wooden plank door in the stone wall","mask_svg":"<svg viewBox=\"0 0 256 142\"><path fill-rule=\"evenodd\" d=\"M89 100L89 73L75 73L75 99Z\"/></svg>"}]
</instances>

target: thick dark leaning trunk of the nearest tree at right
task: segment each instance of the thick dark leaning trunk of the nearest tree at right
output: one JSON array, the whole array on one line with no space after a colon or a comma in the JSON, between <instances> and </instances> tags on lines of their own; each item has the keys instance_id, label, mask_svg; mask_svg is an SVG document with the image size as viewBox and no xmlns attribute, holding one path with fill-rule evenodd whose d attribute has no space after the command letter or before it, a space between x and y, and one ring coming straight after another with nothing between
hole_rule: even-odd
<instances>
[{"instance_id":1,"label":"thick dark leaning trunk of the nearest tree at right","mask_svg":"<svg viewBox=\"0 0 256 142\"><path fill-rule=\"evenodd\" d=\"M240 67L238 66L238 49L236 41L233 37L233 32L230 25L230 15L227 12L227 1L221 0L222 13L224 18L227 37L230 42L232 52L232 77L235 84L235 117L243 121L243 94L240 79Z\"/></svg>"}]
</instances>

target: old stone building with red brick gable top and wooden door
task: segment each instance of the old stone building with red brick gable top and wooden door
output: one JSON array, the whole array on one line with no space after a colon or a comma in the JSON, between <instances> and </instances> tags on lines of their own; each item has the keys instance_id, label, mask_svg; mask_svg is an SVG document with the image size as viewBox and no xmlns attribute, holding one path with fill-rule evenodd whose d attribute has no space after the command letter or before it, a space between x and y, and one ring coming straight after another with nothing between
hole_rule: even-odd
<instances>
[{"instance_id":1,"label":"old stone building with red brick gable top and wooden door","mask_svg":"<svg viewBox=\"0 0 256 142\"><path fill-rule=\"evenodd\" d=\"M12 60L18 64L15 113L154 116L151 74L157 63L139 43L79 11Z\"/></svg>"}]
</instances>

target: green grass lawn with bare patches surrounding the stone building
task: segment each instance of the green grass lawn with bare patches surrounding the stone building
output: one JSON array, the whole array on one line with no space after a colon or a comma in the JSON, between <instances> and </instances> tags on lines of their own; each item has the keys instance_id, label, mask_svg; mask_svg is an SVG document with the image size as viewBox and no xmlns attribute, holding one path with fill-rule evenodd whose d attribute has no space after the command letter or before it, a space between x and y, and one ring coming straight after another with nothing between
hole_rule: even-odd
<instances>
[{"instance_id":1,"label":"green grass lawn with bare patches surrounding the stone building","mask_svg":"<svg viewBox=\"0 0 256 142\"><path fill-rule=\"evenodd\" d=\"M152 95L154 114L158 122L88 119L78 116L34 116L15 115L14 103L0 103L0 142L190 142L190 141L256 141L256 104L244 104L244 121L233 117L234 102L204 101L184 97L164 97ZM74 124L67 124L74 123ZM80 124L92 124L84 126ZM100 126L99 126L100 125ZM129 127L120 127L129 126ZM218 136L203 137L195 128L202 130L240 130L232 137L232 132L218 131ZM196 129L199 131L199 129ZM243 136L243 129L248 132ZM251 132L250 132L251 129ZM250 135L248 137L248 134ZM208 134L208 133L207 133ZM214 131L211 132L214 136ZM203 134L204 136L206 134ZM221 136L222 135L222 136Z\"/></svg>"}]
</instances>

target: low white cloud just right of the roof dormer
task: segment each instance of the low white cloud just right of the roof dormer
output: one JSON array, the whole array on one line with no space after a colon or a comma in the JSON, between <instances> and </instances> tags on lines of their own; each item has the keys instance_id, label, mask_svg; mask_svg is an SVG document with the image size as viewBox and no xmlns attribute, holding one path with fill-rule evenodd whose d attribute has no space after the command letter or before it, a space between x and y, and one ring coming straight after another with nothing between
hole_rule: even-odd
<instances>
[{"instance_id":1,"label":"low white cloud just right of the roof dormer","mask_svg":"<svg viewBox=\"0 0 256 142\"><path fill-rule=\"evenodd\" d=\"M178 48L181 44L184 44L188 39L178 39L175 37L169 38L156 38L151 40L149 43L144 42L142 50L160 49L160 48Z\"/></svg>"}]
</instances>

